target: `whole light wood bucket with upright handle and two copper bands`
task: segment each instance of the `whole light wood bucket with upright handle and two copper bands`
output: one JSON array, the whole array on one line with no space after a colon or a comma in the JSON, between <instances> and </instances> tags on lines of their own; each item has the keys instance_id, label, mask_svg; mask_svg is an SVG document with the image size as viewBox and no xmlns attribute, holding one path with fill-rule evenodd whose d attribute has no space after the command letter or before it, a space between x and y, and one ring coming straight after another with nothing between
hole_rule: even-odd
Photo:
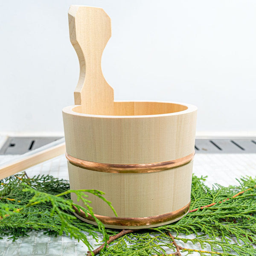
<instances>
[{"instance_id":1,"label":"whole light wood bucket with upright handle and two copper bands","mask_svg":"<svg viewBox=\"0 0 256 256\"><path fill-rule=\"evenodd\" d=\"M100 8L71 6L69 23L80 62L76 105L62 111L70 188L105 192L118 217L89 195L105 227L142 229L179 220L189 211L197 108L114 101L100 68L110 18ZM90 215L75 214L96 224Z\"/></svg>"}]
</instances>

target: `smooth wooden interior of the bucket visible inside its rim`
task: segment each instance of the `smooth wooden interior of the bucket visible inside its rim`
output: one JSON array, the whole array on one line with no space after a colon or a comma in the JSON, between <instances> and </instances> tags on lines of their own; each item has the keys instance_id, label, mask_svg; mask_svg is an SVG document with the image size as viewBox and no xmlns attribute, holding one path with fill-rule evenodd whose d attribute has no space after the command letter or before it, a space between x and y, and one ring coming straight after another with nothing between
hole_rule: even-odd
<instances>
[{"instance_id":1,"label":"smooth wooden interior of the bucket visible inside its rim","mask_svg":"<svg viewBox=\"0 0 256 256\"><path fill-rule=\"evenodd\" d=\"M188 107L185 105L169 102L113 102L113 105L110 106L110 108L102 111L99 109L95 109L95 111L86 111L82 105L76 106L73 108L73 111L91 115L143 116L175 113L186 109L188 109Z\"/></svg>"}]
</instances>

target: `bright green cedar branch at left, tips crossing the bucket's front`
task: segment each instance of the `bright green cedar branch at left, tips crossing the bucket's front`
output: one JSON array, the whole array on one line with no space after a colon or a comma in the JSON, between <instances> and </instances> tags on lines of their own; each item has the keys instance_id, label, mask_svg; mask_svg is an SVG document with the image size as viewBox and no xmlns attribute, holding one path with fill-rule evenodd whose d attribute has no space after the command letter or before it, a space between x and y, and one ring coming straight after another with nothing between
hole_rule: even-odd
<instances>
[{"instance_id":1,"label":"bright green cedar branch at left, tips crossing the bucket's front","mask_svg":"<svg viewBox=\"0 0 256 256\"><path fill-rule=\"evenodd\" d=\"M17 218L21 221L21 224L23 225L21 229L23 230L26 229L26 227L29 229L30 226L32 226L35 230L40 230L48 227L49 230L53 230L55 232L57 232L58 230L58 235L62 235L63 233L69 234L71 238L73 237L78 241L81 240L84 242L84 244L87 245L89 249L93 249L93 247L90 245L90 243L87 240L86 234L82 233L80 228L77 227L76 225L73 225L72 223L72 222L76 223L75 221L77 220L76 216L72 214L72 212L74 212L73 205L76 205L76 204L74 204L70 199L65 199L65 197L69 198L70 193L75 193L78 198L78 201L81 200L84 204L84 207L86 208L78 205L76 205L76 207L79 207L79 209L82 209L86 214L90 214L93 216L96 223L98 224L97 230L103 235L103 241L108 241L109 239L108 233L106 233L104 225L94 216L93 208L90 206L91 202L87 199L88 195L85 194L85 193L91 193L93 195L96 195L97 197L105 201L111 207L111 209L113 209L111 203L108 202L102 196L104 195L104 192L101 192L99 190L93 190L93 189L80 189L80 190L68 189L57 195L52 195L46 192L39 191L38 187L37 189L31 187L31 185L32 186L35 185L35 179L37 179L38 177L35 178L34 180L31 179L28 181L24 179L24 175L22 177L17 177L17 175L15 176L16 176L15 177L16 180L14 180L13 178L10 178L9 182L7 182L9 186L2 187L0 194L12 194L13 193L12 190L15 189L15 186L18 186L19 194L23 196L26 195L26 200L21 199L16 201L16 199L14 198L14 195L12 197L13 200L10 200L9 197L1 196L0 198L1 201L6 201L6 202L12 201L12 202L15 202L16 204L0 203L0 227L2 226L5 218L9 218L9 219L11 218L12 220L13 216L15 215L16 217L18 216ZM44 180L44 177L41 180ZM55 179L53 180L55 181ZM10 181L14 181L14 182L10 184ZM44 181L47 182L47 180L44 180ZM12 186L14 184L15 186ZM42 187L44 187L46 184L41 183L41 185ZM48 184L48 185L52 185L52 184ZM38 184L36 184L36 186L38 186ZM17 203L20 203L22 206L20 207L20 205ZM38 205L40 205L40 207ZM45 211L44 212L38 211L36 213L36 209L42 209L43 211L45 209ZM116 214L115 211L114 213ZM45 219L48 219L48 223L41 223L42 220L44 220L44 218L41 218L41 220L37 222L36 219L38 218L37 217L38 214L47 216L47 218ZM51 225L49 223L49 218L52 218L52 217L54 217L54 219L56 220L55 225ZM23 219L26 219L26 221L24 221ZM20 232L17 231L19 228L18 226L21 226L21 225L20 224L17 225L17 223L12 223L10 222L10 220L8 221L9 221L9 224L6 223L7 225L3 225L3 227L9 229L10 233L12 233L12 230L15 230L15 234L13 238L16 239L16 235L18 236L20 235ZM15 224L17 225L17 227L15 227ZM23 233L21 232L21 234ZM96 237L97 236L94 234L94 238Z\"/></svg>"}]
</instances>

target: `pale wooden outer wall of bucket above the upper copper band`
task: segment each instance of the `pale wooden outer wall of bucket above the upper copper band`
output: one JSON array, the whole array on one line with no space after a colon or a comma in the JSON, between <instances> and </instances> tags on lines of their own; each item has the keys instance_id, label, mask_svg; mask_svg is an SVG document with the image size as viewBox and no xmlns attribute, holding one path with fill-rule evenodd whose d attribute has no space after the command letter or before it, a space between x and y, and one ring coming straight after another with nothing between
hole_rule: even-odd
<instances>
[{"instance_id":1,"label":"pale wooden outer wall of bucket above the upper copper band","mask_svg":"<svg viewBox=\"0 0 256 256\"><path fill-rule=\"evenodd\" d=\"M183 106L185 111L169 114L112 117L76 113L74 106L64 108L67 153L81 160L113 164L185 157L194 151L196 108Z\"/></svg>"}]
</instances>

